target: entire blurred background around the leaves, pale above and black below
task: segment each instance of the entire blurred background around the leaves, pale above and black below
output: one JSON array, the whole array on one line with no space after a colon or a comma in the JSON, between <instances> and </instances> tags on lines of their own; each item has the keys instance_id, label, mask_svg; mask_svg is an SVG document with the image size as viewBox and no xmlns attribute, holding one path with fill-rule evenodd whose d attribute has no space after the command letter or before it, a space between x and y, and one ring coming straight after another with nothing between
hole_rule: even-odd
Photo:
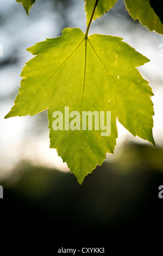
<instances>
[{"instance_id":1,"label":"entire blurred background around the leaves, pale above and black below","mask_svg":"<svg viewBox=\"0 0 163 256\"><path fill-rule=\"evenodd\" d=\"M4 120L20 87L20 73L31 55L26 48L59 36L65 27L85 31L83 0L37 0L28 17L15 0L0 3L1 241L5 249L30 245L39 251L105 247L105 252L133 254L161 245L163 198L162 36L128 15L123 1L92 23L90 33L121 36L151 62L139 68L153 88L156 148L134 138L118 124L114 155L87 175L83 185L55 149L49 149L47 113ZM141 247L142 246L142 247ZM79 254L79 253L78 253ZM76 254L76 255L78 255Z\"/></svg>"}]
</instances>

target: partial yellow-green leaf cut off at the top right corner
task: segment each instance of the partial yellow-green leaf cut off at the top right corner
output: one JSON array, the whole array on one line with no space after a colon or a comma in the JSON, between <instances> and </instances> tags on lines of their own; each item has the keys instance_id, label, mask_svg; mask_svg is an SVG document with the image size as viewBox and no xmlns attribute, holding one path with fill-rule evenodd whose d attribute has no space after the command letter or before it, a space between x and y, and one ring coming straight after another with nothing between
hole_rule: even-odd
<instances>
[{"instance_id":1,"label":"partial yellow-green leaf cut off at the top right corner","mask_svg":"<svg viewBox=\"0 0 163 256\"><path fill-rule=\"evenodd\" d=\"M155 14L149 0L124 0L126 8L134 20L139 20L143 26L146 26L150 31L155 31L163 34L163 24L159 17Z\"/></svg>"}]
</instances>

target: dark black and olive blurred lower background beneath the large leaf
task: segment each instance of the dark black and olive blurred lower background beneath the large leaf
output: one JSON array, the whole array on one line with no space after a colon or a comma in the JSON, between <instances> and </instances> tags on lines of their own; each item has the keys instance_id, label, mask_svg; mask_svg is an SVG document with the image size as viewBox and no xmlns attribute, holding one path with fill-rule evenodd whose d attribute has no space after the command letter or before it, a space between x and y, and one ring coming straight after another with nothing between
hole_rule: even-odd
<instances>
[{"instance_id":1,"label":"dark black and olive blurred lower background beneath the large leaf","mask_svg":"<svg viewBox=\"0 0 163 256\"><path fill-rule=\"evenodd\" d=\"M38 249L48 242L54 255L61 247L104 247L108 255L130 246L156 250L162 245L162 159L162 148L129 143L81 186L73 174L21 162L1 183L4 237L35 246L38 239Z\"/></svg>"}]
</instances>

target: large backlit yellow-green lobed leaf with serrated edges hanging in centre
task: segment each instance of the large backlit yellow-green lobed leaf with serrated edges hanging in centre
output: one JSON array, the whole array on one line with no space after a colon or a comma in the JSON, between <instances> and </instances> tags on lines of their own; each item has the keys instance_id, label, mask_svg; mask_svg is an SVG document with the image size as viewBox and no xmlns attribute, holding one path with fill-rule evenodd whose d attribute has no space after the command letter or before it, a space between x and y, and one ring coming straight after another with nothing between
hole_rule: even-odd
<instances>
[{"instance_id":1,"label":"large backlit yellow-green lobed leaf with serrated edges hanging in centre","mask_svg":"<svg viewBox=\"0 0 163 256\"><path fill-rule=\"evenodd\" d=\"M27 49L33 59L24 66L15 105L5 118L34 115L48 109L51 148L67 162L79 184L114 153L116 119L134 136L154 144L153 95L148 82L135 68L149 60L111 35L90 35L65 28L58 38ZM110 136L101 130L53 130L54 111L111 111ZM72 119L72 118L71 118ZM64 122L65 125L65 122ZM65 126L64 126L65 127Z\"/></svg>"}]
</instances>

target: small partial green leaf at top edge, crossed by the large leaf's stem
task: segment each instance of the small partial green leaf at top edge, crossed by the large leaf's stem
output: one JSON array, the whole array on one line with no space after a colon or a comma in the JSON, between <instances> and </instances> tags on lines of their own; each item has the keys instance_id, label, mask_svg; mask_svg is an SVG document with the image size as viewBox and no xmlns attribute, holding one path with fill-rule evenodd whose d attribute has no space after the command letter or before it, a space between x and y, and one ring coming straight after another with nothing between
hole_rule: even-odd
<instances>
[{"instance_id":1,"label":"small partial green leaf at top edge, crossed by the large leaf's stem","mask_svg":"<svg viewBox=\"0 0 163 256\"><path fill-rule=\"evenodd\" d=\"M95 5L96 0L84 0L85 1L85 11L86 11L86 23L89 23L93 7ZM99 0L95 15L93 16L93 20L101 17L107 11L109 11L112 7L114 7L117 0Z\"/></svg>"}]
</instances>

